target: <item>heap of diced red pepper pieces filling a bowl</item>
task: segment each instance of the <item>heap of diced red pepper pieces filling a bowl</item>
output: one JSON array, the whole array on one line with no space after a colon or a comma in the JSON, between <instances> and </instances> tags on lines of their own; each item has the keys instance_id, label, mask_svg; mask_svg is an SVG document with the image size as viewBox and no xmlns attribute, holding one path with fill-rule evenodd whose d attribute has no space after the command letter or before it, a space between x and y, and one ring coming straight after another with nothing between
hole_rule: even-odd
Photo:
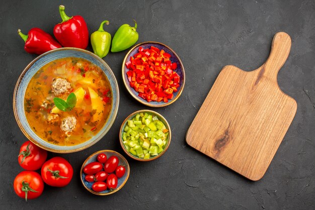
<instances>
[{"instance_id":1,"label":"heap of diced red pepper pieces filling a bowl","mask_svg":"<svg viewBox=\"0 0 315 210\"><path fill-rule=\"evenodd\" d=\"M177 63L172 63L170 58L171 54L163 49L139 47L138 52L125 63L129 69L126 74L130 87L139 93L140 98L164 103L173 99L173 93L180 87L180 76L175 72Z\"/></svg>"}]
</instances>

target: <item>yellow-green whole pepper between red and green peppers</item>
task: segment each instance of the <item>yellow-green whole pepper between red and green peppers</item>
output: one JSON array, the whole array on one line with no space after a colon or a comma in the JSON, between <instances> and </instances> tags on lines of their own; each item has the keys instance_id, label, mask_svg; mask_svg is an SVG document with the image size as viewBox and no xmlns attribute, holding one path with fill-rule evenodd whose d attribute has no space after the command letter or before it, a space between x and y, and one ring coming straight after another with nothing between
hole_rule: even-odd
<instances>
[{"instance_id":1,"label":"yellow-green whole pepper between red and green peppers","mask_svg":"<svg viewBox=\"0 0 315 210\"><path fill-rule=\"evenodd\" d=\"M93 51L101 58L107 55L111 46L111 35L110 33L104 31L104 24L108 25L109 21L103 21L99 30L91 34L91 44L93 47Z\"/></svg>"}]
</instances>

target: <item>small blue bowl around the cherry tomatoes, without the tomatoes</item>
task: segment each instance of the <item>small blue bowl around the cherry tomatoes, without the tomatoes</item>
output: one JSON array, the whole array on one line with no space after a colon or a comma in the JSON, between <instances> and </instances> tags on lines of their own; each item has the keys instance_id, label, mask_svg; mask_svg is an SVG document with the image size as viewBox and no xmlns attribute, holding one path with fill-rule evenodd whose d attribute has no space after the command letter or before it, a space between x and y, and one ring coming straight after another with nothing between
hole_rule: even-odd
<instances>
[{"instance_id":1,"label":"small blue bowl around the cherry tomatoes, without the tomatoes","mask_svg":"<svg viewBox=\"0 0 315 210\"><path fill-rule=\"evenodd\" d=\"M88 165L89 163L92 163L92 162L97 162L97 156L101 153L104 153L106 156L107 156L107 159L109 159L111 156L115 155L118 160L119 160L119 163L118 165L123 165L125 166L125 169L126 169L126 172L125 174L121 177L121 178L118 178L118 184L117 184L117 187L116 189L110 191L110 189L107 189L107 190L104 190L102 192L95 192L93 191L92 189L92 185L94 182L88 182L85 178L86 178L86 175L85 173L83 173L83 169L86 165ZM82 181L82 184L83 186L91 193L93 194L96 194L96 195L110 195L110 194L113 194L115 192L117 192L118 190L120 190L124 185L125 183L127 182L128 178L129 178L129 173L130 173L130 167L129 167L129 164L127 162L127 160L122 156L120 155L119 153L115 152L115 151L112 151L112 150L101 150L101 151L98 151L96 153L93 153L91 156L89 156L87 158L87 160L83 163L82 167L81 167L81 181ZM105 181L106 182L106 181Z\"/></svg>"}]
</instances>

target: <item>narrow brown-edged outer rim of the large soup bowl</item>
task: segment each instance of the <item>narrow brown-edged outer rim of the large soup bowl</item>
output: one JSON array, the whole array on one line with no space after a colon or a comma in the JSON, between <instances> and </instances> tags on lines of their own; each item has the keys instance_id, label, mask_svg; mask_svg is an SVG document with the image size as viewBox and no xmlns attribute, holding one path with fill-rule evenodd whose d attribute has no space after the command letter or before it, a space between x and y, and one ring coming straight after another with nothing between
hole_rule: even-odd
<instances>
[{"instance_id":1,"label":"narrow brown-edged outer rim of the large soup bowl","mask_svg":"<svg viewBox=\"0 0 315 210\"><path fill-rule=\"evenodd\" d=\"M22 123L20 122L20 119L18 117L18 113L17 113L17 109L16 109L16 96L17 96L17 92L19 91L19 88L20 88L20 84L25 76L25 74L27 73L27 71L29 70L29 68L37 61L39 60L40 58L46 56L47 54L50 54L50 53L53 53L53 52L56 52L56 51L64 51L64 50L75 50L75 51L81 51L83 53L87 53L93 57L95 57L96 59L99 59L101 62L103 62L104 65L108 66L109 68L109 71L110 73L113 75L113 78L114 78L114 81L115 81L115 87L117 89L117 98L116 98L116 103L117 103L117 108L116 110L114 111L114 116L113 116L113 119L112 121L109 122L109 126L108 126L108 130L106 132L103 132L103 134L100 136L100 138L97 140L97 141L93 141L91 142L90 144L86 145L85 147L81 147L81 148L77 148L77 149L72 149L72 150L55 150L55 149L52 149L52 148L49 148L49 147L45 147L45 146L42 146L41 144L37 143L36 141L34 141L34 139L26 132L26 130L24 129ZM47 151L50 151L50 152L54 152L54 153L73 153L73 152L78 152L78 151L82 151L82 150L85 150L91 146L93 146L94 144L96 144L97 142L99 142L105 135L106 133L110 130L110 128L112 127L112 125L114 124L114 121L116 119L116 116L117 116L117 113L118 113L118 108L119 108L119 87L118 87L118 82L117 82L117 79L111 69L111 67L102 59L100 58L99 56L97 56L96 54L88 51L88 50L85 50L85 49L81 49L81 48L75 48L75 47L62 47L62 48L57 48L57 49L53 49L53 50L49 50L39 56L37 56L36 58L34 58L25 68L24 70L22 71L21 75L19 76L18 78L18 81L15 85L15 88L14 88L14 94L13 94L13 112L14 112L14 116L15 116L15 119L21 129L21 131L23 132L23 134L29 139L29 141L31 141L32 143L34 143L36 146L44 149L44 150L47 150ZM106 121L107 122L107 121ZM105 122L105 123L106 123Z\"/></svg>"}]
</instances>

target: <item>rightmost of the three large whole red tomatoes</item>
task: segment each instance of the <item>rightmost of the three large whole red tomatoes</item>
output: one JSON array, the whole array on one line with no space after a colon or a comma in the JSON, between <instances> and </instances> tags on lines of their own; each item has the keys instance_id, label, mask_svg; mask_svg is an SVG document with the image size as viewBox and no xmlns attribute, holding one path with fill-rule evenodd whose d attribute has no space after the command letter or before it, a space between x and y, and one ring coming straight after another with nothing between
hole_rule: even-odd
<instances>
[{"instance_id":1,"label":"rightmost of the three large whole red tomatoes","mask_svg":"<svg viewBox=\"0 0 315 210\"><path fill-rule=\"evenodd\" d=\"M41 174L46 184L53 187L64 187L71 181L73 169L64 158L54 157L44 163Z\"/></svg>"}]
</instances>

